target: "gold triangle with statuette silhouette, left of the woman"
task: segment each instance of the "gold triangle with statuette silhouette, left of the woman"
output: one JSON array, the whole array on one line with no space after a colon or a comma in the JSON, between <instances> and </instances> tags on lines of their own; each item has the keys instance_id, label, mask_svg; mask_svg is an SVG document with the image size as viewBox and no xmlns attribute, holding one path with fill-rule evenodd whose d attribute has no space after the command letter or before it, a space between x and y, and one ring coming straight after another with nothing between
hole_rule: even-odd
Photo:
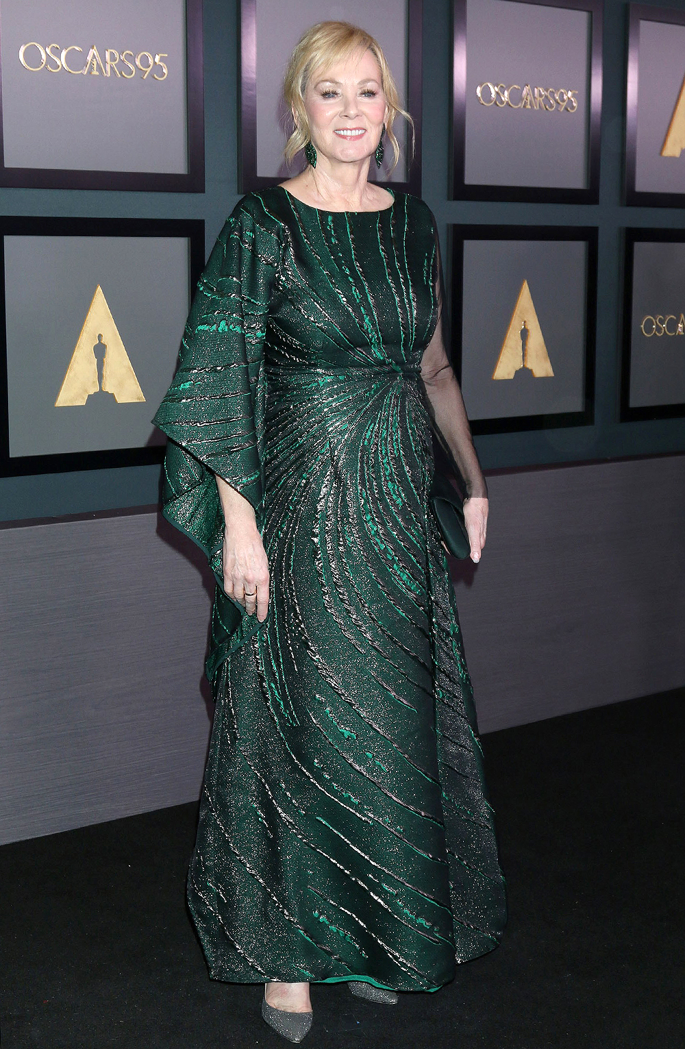
<instances>
[{"instance_id":1,"label":"gold triangle with statuette silhouette, left of the woman","mask_svg":"<svg viewBox=\"0 0 685 1049\"><path fill-rule=\"evenodd\" d=\"M91 393L113 393L117 404L145 401L114 318L98 284L56 408L85 404Z\"/></svg>"}]
</instances>

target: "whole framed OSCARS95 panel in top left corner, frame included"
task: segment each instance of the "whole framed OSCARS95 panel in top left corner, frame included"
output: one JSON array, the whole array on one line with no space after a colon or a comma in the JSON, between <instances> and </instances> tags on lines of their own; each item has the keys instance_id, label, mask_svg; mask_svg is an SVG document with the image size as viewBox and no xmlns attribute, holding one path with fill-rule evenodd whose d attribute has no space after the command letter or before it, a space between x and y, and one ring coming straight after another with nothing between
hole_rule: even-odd
<instances>
[{"instance_id":1,"label":"whole framed OSCARS95 panel in top left corner, frame included","mask_svg":"<svg viewBox=\"0 0 685 1049\"><path fill-rule=\"evenodd\" d=\"M0 0L0 28L5 185L202 188L198 0Z\"/></svg>"}]
</instances>

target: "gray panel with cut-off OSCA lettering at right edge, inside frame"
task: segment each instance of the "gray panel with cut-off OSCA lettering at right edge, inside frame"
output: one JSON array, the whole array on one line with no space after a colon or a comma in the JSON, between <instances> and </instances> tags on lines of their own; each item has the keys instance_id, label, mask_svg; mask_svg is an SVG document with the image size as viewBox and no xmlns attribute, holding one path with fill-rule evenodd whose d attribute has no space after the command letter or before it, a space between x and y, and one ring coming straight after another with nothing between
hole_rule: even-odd
<instances>
[{"instance_id":1,"label":"gray panel with cut-off OSCA lettering at right edge, inside frame","mask_svg":"<svg viewBox=\"0 0 685 1049\"><path fill-rule=\"evenodd\" d=\"M685 313L685 243L638 241L634 259L630 406L685 403L685 334L647 338L640 329L647 315Z\"/></svg>"}]
</instances>

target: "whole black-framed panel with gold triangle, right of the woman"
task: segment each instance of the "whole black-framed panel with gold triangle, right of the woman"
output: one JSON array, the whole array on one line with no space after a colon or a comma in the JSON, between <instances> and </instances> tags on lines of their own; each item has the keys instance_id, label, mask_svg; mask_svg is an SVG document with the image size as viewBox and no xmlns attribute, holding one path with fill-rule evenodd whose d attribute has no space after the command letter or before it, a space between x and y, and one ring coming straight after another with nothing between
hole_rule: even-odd
<instances>
[{"instance_id":1,"label":"whole black-framed panel with gold triangle, right of the woman","mask_svg":"<svg viewBox=\"0 0 685 1049\"><path fill-rule=\"evenodd\" d=\"M474 432L592 421L594 233L455 228L455 364Z\"/></svg>"}]
</instances>

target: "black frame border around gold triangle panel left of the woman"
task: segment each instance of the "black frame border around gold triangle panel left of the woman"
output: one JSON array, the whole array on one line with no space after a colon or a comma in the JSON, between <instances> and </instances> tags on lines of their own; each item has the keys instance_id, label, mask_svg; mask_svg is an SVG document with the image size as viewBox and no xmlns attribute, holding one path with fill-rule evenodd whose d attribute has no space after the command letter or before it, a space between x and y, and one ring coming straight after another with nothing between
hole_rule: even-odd
<instances>
[{"instance_id":1,"label":"black frame border around gold triangle panel left of the woman","mask_svg":"<svg viewBox=\"0 0 685 1049\"><path fill-rule=\"evenodd\" d=\"M101 470L162 463L165 445L108 448L55 455L9 456L9 404L7 390L7 329L4 286L5 236L55 237L186 237L189 242L189 298L205 265L205 220L201 218L41 218L0 217L0 477ZM178 341L180 336L178 333ZM154 406L152 406L153 408ZM151 410L152 410L151 408Z\"/></svg>"}]
</instances>

